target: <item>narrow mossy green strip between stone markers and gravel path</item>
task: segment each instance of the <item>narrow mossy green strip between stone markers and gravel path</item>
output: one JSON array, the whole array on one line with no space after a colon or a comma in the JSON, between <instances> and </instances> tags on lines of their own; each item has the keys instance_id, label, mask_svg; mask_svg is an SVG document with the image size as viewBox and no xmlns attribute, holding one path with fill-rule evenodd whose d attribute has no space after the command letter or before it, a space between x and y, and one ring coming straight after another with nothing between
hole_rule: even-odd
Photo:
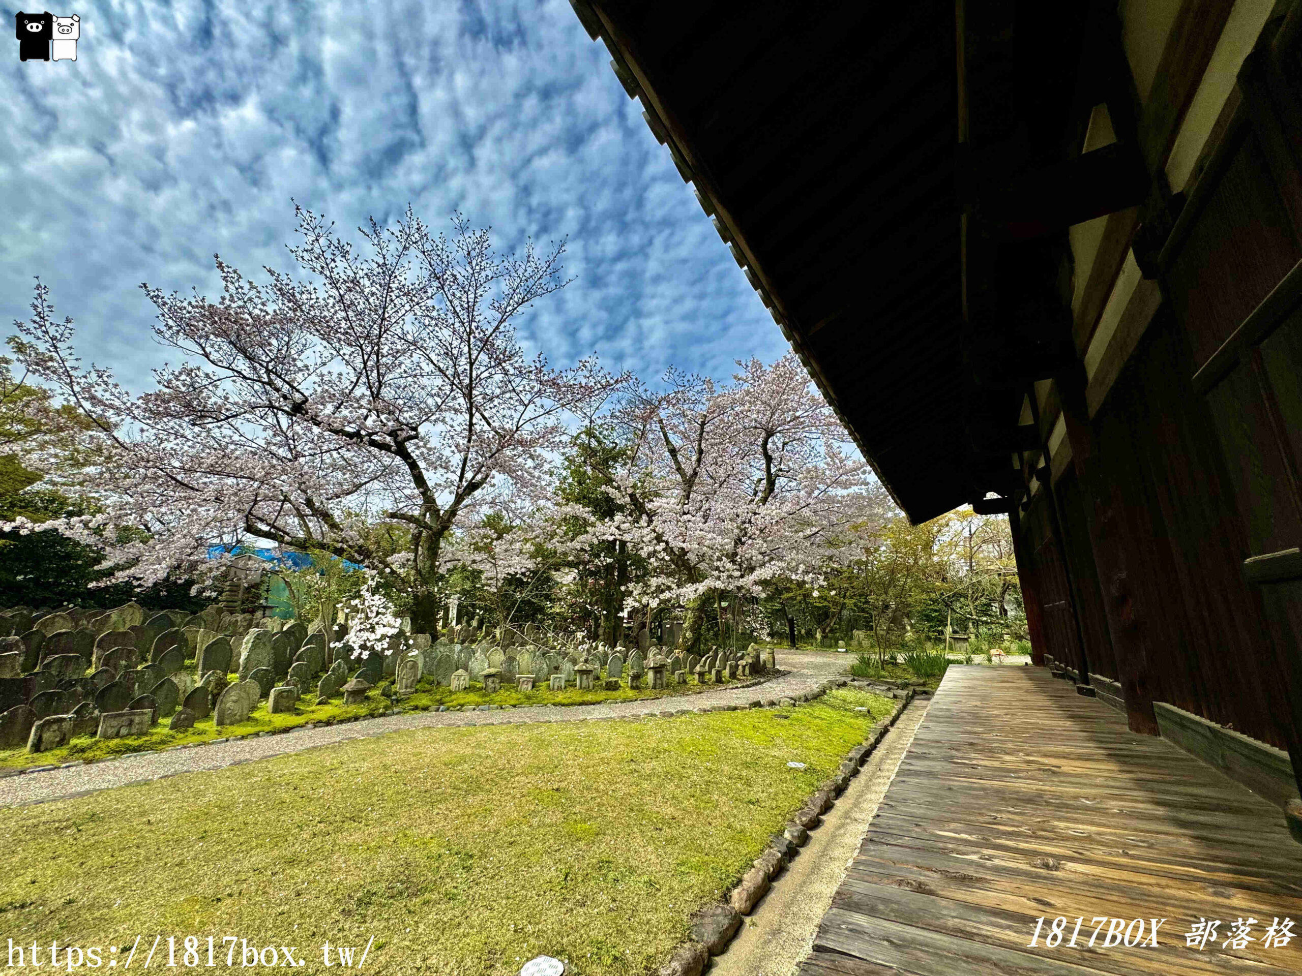
<instances>
[{"instance_id":1,"label":"narrow mossy green strip between stone markers and gravel path","mask_svg":"<svg viewBox=\"0 0 1302 976\"><path fill-rule=\"evenodd\" d=\"M240 677L230 675L236 682ZM212 739L228 738L230 735L253 735L273 729L293 729L309 722L322 724L329 721L361 718L381 714L391 708L398 711L427 709L437 705L448 708L465 708L467 705L505 705L519 708L523 705L591 705L600 701L637 701L643 699L661 699L680 695L695 695L702 691L717 688L717 685L674 685L661 691L647 688L631 690L626 685L617 691L579 691L578 688L565 688L564 691L551 691L539 688L538 691L518 691L514 687L501 688L495 694L484 692L479 685L473 685L467 691L452 691L448 687L439 687L430 681L422 681L413 695L391 703L380 696L379 691L371 691L366 701L359 705L345 705L342 699L332 699L329 704L316 705L316 696L311 692L299 699L293 712L270 714L267 701L259 701L256 708L249 714L249 721L238 725L224 725L220 729L214 725L212 716L202 718L194 724L193 729L172 731L168 729L168 718L163 718L146 735L133 735L124 739L96 739L94 735L82 735L69 744L46 752L31 753L26 747L0 750L0 769L23 769L29 766L59 765L76 760L94 761L108 759L109 756L122 756L129 752L154 752L171 748L172 746L189 746Z\"/></svg>"}]
</instances>

